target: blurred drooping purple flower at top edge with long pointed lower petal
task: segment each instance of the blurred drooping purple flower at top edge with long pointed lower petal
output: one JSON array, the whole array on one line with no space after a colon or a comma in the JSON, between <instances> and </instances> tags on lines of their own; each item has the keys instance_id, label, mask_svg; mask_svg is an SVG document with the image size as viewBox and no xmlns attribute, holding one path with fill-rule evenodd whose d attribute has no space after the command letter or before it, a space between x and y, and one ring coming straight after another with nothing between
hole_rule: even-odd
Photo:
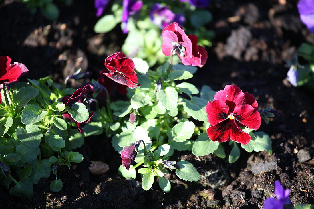
<instances>
[{"instance_id":1,"label":"blurred drooping purple flower at top edge with long pointed lower petal","mask_svg":"<svg viewBox=\"0 0 314 209\"><path fill-rule=\"evenodd\" d=\"M129 16L135 14L138 10L140 10L143 6L142 0L123 0L123 12L122 12L122 27L123 33L129 32L127 30L127 22L129 20Z\"/></svg>"}]
</instances>

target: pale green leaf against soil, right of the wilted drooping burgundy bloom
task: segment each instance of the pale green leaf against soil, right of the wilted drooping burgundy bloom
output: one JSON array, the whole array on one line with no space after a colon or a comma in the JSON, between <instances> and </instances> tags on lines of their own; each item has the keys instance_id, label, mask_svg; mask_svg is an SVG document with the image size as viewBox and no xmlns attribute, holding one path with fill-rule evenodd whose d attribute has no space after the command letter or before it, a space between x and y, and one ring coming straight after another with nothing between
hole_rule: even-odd
<instances>
[{"instance_id":1,"label":"pale green leaf against soil, right of the wilted drooping burgundy bloom","mask_svg":"<svg viewBox=\"0 0 314 209\"><path fill-rule=\"evenodd\" d=\"M176 175L185 181L198 181L201 179L201 175L196 168L185 160L177 162L179 169L176 169Z\"/></svg>"}]
</instances>

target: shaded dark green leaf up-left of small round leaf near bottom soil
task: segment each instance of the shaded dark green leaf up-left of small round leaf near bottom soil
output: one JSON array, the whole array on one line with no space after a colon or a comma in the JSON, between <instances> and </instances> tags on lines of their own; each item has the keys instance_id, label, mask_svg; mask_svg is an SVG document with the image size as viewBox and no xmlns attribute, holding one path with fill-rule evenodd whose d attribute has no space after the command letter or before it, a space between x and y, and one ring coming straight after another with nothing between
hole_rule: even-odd
<instances>
[{"instance_id":1,"label":"shaded dark green leaf up-left of small round leaf near bottom soil","mask_svg":"<svg viewBox=\"0 0 314 209\"><path fill-rule=\"evenodd\" d=\"M30 162L33 166L33 171L30 174L30 180L33 184L37 184L41 178L48 178L50 176L51 168L45 165L46 160L47 159L43 159L40 162L37 158L35 158Z\"/></svg>"}]
</instances>

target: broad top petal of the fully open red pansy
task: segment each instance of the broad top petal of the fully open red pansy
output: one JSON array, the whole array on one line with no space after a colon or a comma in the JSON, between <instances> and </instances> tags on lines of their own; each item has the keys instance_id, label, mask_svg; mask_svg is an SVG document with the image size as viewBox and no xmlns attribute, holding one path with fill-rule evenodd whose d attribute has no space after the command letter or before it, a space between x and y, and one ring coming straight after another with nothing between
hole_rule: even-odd
<instances>
[{"instance_id":1,"label":"broad top petal of the fully open red pansy","mask_svg":"<svg viewBox=\"0 0 314 209\"><path fill-rule=\"evenodd\" d=\"M233 112L233 109L238 105L245 105L245 94L236 85L226 85L224 90L218 91L214 95L214 100L223 100L226 105L229 106L229 111Z\"/></svg>"}]
</instances>

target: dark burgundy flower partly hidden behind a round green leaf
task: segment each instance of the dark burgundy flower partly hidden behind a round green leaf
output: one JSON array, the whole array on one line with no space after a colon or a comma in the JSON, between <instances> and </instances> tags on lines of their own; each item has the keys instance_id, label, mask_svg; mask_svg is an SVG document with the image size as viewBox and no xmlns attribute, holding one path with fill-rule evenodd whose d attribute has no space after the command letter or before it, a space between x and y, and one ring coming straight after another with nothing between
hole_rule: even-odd
<instances>
[{"instance_id":1,"label":"dark burgundy flower partly hidden behind a round green leaf","mask_svg":"<svg viewBox=\"0 0 314 209\"><path fill-rule=\"evenodd\" d=\"M75 102L82 103L84 99L87 98L87 94L89 92L95 92L94 87L92 85L86 85L84 88L77 89L70 97L69 96L62 97L61 102L63 102L65 106L72 107L72 105ZM87 121L84 121L83 123L88 123L93 116L94 116L94 112L90 113L89 119ZM63 113L62 117L65 119L68 119L69 121L75 122L76 126L78 126L78 130L81 133L84 132L83 128L81 127L81 123L74 121L74 119L72 118L70 114L68 114L68 112Z\"/></svg>"}]
</instances>

